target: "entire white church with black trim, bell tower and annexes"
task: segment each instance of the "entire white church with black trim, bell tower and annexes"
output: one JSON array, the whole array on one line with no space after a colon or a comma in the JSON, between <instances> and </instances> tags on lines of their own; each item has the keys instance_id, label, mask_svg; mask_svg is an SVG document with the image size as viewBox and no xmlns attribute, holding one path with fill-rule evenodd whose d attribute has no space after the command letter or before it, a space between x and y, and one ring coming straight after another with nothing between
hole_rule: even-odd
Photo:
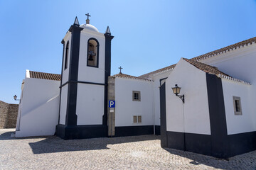
<instances>
[{"instance_id":1,"label":"entire white church with black trim, bell tower and annexes","mask_svg":"<svg viewBox=\"0 0 256 170\"><path fill-rule=\"evenodd\" d=\"M61 42L61 75L26 70L15 137L161 134L161 147L218 158L256 149L256 37L139 77L121 67L110 76L114 36L88 17Z\"/></svg>"}]
</instances>

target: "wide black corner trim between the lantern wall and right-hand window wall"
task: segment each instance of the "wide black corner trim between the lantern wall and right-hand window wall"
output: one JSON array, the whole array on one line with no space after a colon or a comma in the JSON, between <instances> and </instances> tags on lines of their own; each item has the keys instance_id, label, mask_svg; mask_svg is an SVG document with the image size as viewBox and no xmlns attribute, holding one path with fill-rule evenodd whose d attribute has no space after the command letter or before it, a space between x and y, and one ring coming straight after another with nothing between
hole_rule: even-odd
<instances>
[{"instance_id":1,"label":"wide black corner trim between the lantern wall and right-hand window wall","mask_svg":"<svg viewBox=\"0 0 256 170\"><path fill-rule=\"evenodd\" d=\"M223 86L220 78L206 73L208 106L210 114L210 134L213 157L227 158L228 131L225 118Z\"/></svg>"}]
</instances>

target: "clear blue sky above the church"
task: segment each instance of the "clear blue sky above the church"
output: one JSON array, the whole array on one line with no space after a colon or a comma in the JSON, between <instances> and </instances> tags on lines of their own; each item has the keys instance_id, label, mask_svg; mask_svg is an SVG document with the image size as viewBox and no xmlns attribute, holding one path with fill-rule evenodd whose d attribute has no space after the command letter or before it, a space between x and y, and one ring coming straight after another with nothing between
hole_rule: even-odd
<instances>
[{"instance_id":1,"label":"clear blue sky above the church","mask_svg":"<svg viewBox=\"0 0 256 170\"><path fill-rule=\"evenodd\" d=\"M139 76L256 36L256 1L0 0L0 100L18 103L26 69L60 74L63 39L78 16L110 26L112 74Z\"/></svg>"}]
</instances>

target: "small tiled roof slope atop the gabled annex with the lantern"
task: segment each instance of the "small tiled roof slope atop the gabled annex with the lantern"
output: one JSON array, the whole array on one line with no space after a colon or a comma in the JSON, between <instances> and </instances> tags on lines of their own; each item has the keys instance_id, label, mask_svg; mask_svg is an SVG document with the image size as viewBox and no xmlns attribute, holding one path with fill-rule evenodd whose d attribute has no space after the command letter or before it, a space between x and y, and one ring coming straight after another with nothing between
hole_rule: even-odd
<instances>
[{"instance_id":1,"label":"small tiled roof slope atop the gabled annex with the lantern","mask_svg":"<svg viewBox=\"0 0 256 170\"><path fill-rule=\"evenodd\" d=\"M223 76L230 77L228 74L220 72L220 70L218 70L217 67L213 67L213 66L210 66L208 64L204 64L202 62L196 62L196 61L193 61L193 60L188 60L186 58L183 58L183 60L185 60L186 62L192 64L196 68L201 69L203 72L210 73L210 74L215 74L215 75L221 74Z\"/></svg>"}]
</instances>

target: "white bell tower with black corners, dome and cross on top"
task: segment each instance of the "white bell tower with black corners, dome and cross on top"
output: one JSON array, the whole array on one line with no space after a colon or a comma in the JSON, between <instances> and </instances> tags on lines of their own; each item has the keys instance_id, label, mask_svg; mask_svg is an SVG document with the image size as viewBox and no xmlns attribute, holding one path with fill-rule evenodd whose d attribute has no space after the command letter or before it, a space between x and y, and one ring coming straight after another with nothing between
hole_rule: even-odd
<instances>
[{"instance_id":1,"label":"white bell tower with black corners, dome and cross on top","mask_svg":"<svg viewBox=\"0 0 256 170\"><path fill-rule=\"evenodd\" d=\"M60 111L56 135L65 140L107 137L107 78L111 69L111 35L78 18L62 40Z\"/></svg>"}]
</instances>

